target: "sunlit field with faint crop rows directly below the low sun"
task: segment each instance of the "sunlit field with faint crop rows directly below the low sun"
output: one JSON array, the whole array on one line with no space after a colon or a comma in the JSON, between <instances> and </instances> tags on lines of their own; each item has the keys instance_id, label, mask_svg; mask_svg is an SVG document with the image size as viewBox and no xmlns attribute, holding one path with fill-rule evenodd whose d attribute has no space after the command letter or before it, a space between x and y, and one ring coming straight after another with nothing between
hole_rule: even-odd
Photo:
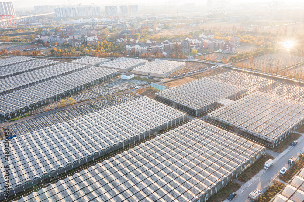
<instances>
[{"instance_id":1,"label":"sunlit field with faint crop rows directly below the low sun","mask_svg":"<svg viewBox=\"0 0 304 202\"><path fill-rule=\"evenodd\" d=\"M267 67L269 69L271 63L271 68L273 69L273 71L276 71L277 65L278 65L278 71L280 71L280 70L284 70L285 65L291 66L301 61L304 61L304 57L302 56L295 56L284 52L277 52L273 54L264 54L261 56L254 57L253 67L255 65L255 69L260 69L263 67L264 68ZM238 64L240 63L249 65L249 59L238 62Z\"/></svg>"}]
</instances>

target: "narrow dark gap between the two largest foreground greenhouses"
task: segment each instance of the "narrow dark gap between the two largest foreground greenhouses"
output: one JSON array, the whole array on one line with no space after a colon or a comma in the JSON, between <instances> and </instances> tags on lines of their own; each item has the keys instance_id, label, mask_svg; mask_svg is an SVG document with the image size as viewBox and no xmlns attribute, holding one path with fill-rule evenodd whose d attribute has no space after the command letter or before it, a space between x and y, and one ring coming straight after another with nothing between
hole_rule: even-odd
<instances>
[{"instance_id":1,"label":"narrow dark gap between the two largest foreground greenhouses","mask_svg":"<svg viewBox=\"0 0 304 202\"><path fill-rule=\"evenodd\" d=\"M188 118L186 121L184 121L184 122L182 122L182 123L179 123L179 124L177 124L177 125L175 125L175 126L172 126L170 129L164 130L164 131L162 131L161 133L154 134L154 135L150 136L150 137L147 138L147 139L143 139L143 140L141 140L140 142L138 142L138 143L136 143L136 144L134 144L134 145L128 146L128 147L125 148L125 149L116 151L114 154L112 154L112 155L110 155L110 156L108 156L108 157L103 157L102 159L100 159L100 160L98 160L98 161L95 161L95 162L92 162L92 163L90 163L90 164L87 164L87 165L85 165L85 166L83 166L83 167L77 169L76 171L74 171L74 172L72 172L72 173L67 173L66 175L64 175L64 176L62 176L62 177L60 176L60 178L54 179L54 180L52 180L51 182L49 182L49 183L47 183L47 184L44 184L44 185L43 185L43 184L40 184L40 185L38 185L38 187L37 187L36 189L31 190L31 191L28 191L28 192L26 192L26 193L21 193L21 194L23 194L23 195L14 197L12 200L5 200L5 201L13 202L13 201L15 201L16 199L19 200L19 198L22 198L23 196L29 195L29 194L31 194L32 192L36 192L36 191L42 189L43 187L47 187L47 186L49 186L49 185L51 185L51 184L57 183L58 181L63 180L64 178L66 178L66 177L68 177L68 176L71 176L71 175L73 175L73 174L75 174L75 173L79 173L79 172L81 172L82 170L85 170L85 169L91 167L92 165L96 165L96 164L98 164L98 163L100 163L100 162L102 162L102 161L104 161L104 160L109 160L111 157L115 157L117 154L120 154L120 153L122 153L122 152L124 152L124 151L127 151L127 150L129 150L129 149L131 149L131 148L134 148L135 146L138 146L138 145L140 145L140 144L142 144L142 143L144 143L144 142L146 142L146 141L149 141L149 140L151 140L151 139L153 139L153 138L155 138L155 137L157 137L157 136L160 136L161 134L164 134L164 133L166 133L166 132L168 132L168 131L170 131L170 130L173 130L174 128L177 128L178 126L181 126L181 125L183 125L183 124L185 124L185 123L188 123L189 121L194 120L195 118L196 118L196 117L191 118L191 119ZM253 141L253 142L254 142L254 141ZM260 143L258 143L258 144L260 144ZM43 185L43 186L41 186L41 185ZM39 186L41 186L41 187L39 187Z\"/></svg>"}]
</instances>

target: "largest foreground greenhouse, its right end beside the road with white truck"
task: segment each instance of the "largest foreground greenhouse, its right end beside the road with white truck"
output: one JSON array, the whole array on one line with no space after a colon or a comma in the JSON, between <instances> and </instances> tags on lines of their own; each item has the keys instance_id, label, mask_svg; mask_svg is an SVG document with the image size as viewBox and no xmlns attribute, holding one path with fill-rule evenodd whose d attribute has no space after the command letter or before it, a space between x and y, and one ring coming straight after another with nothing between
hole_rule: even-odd
<instances>
[{"instance_id":1,"label":"largest foreground greenhouse, its right end beside the road with white truck","mask_svg":"<svg viewBox=\"0 0 304 202\"><path fill-rule=\"evenodd\" d=\"M207 201L265 147L195 119L19 198L29 201Z\"/></svg>"}]
</instances>

